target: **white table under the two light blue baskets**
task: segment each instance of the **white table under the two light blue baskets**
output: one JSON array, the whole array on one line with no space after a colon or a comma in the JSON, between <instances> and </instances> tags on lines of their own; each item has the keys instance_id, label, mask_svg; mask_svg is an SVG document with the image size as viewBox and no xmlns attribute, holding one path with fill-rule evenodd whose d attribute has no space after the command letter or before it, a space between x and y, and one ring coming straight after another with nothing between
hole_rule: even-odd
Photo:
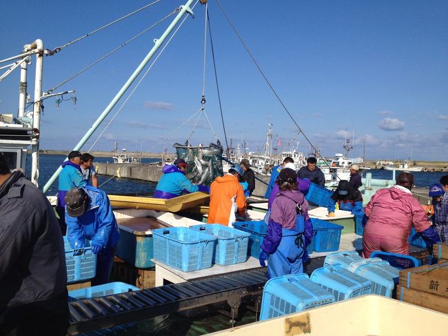
<instances>
[{"instance_id":1,"label":"white table under the two light blue baskets","mask_svg":"<svg viewBox=\"0 0 448 336\"><path fill-rule=\"evenodd\" d=\"M203 270L194 270L193 272L182 272L171 266L167 266L161 261L151 259L156 264L156 287L163 286L165 281L172 284L179 284L180 282L201 279L203 277L210 277L210 275L223 275L226 273L237 272L239 270L251 270L260 267L260 262L254 257L250 257L246 262L234 264L229 266L213 265L210 268Z\"/></svg>"}]
</instances>

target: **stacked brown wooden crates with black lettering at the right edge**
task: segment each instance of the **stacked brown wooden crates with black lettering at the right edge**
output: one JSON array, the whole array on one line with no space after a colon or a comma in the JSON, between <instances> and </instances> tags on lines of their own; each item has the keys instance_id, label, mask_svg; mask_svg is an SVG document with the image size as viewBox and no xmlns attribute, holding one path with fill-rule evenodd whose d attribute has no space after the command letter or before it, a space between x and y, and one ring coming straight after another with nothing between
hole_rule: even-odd
<instances>
[{"instance_id":1,"label":"stacked brown wooden crates with black lettering at the right edge","mask_svg":"<svg viewBox=\"0 0 448 336\"><path fill-rule=\"evenodd\" d=\"M448 313L448 262L401 270L396 295L400 301Z\"/></svg>"}]
</instances>

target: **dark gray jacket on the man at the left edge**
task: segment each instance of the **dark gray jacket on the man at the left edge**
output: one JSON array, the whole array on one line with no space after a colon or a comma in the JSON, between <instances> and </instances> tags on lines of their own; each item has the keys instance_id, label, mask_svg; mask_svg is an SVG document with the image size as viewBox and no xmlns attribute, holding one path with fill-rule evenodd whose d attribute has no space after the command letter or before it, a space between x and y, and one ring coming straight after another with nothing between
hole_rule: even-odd
<instances>
[{"instance_id":1,"label":"dark gray jacket on the man at the left edge","mask_svg":"<svg viewBox=\"0 0 448 336\"><path fill-rule=\"evenodd\" d=\"M57 218L21 172L0 186L0 313L60 297L67 286Z\"/></svg>"}]
</instances>

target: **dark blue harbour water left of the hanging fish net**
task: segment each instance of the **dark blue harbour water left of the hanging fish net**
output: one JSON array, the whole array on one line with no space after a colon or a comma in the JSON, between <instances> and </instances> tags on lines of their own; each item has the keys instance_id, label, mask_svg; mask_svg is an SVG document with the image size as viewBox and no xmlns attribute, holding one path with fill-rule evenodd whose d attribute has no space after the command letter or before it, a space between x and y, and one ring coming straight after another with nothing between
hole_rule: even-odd
<instances>
[{"instance_id":1,"label":"dark blue harbour water left of the hanging fish net","mask_svg":"<svg viewBox=\"0 0 448 336\"><path fill-rule=\"evenodd\" d=\"M47 181L52 177L53 173L61 165L65 159L64 155L39 155L39 188L42 189ZM113 162L112 157L95 157L96 162ZM142 159L144 164L149 164L154 161L159 161L158 159ZM31 171L31 155L28 155L27 159L27 173ZM156 184L153 182L139 181L136 179L119 179L114 177L111 179L110 176L99 175L99 185L101 189L110 194L117 193L147 193L154 192ZM56 195L58 190L58 180L52 184L51 188L45 193L45 195Z\"/></svg>"}]
</instances>

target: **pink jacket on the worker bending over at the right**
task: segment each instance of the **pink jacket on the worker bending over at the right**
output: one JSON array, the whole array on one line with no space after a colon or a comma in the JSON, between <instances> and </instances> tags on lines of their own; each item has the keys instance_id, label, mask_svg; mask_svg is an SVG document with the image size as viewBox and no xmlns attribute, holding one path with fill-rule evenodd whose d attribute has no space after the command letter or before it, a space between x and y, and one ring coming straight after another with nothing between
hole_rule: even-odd
<instances>
[{"instance_id":1,"label":"pink jacket on the worker bending over at the right","mask_svg":"<svg viewBox=\"0 0 448 336\"><path fill-rule=\"evenodd\" d=\"M418 233L422 233L425 241L431 244L440 241L425 210L412 193L402 186L378 190L365 207L365 215L368 220L364 239L369 239L369 235L383 236L407 246L407 239L414 226Z\"/></svg>"}]
</instances>

